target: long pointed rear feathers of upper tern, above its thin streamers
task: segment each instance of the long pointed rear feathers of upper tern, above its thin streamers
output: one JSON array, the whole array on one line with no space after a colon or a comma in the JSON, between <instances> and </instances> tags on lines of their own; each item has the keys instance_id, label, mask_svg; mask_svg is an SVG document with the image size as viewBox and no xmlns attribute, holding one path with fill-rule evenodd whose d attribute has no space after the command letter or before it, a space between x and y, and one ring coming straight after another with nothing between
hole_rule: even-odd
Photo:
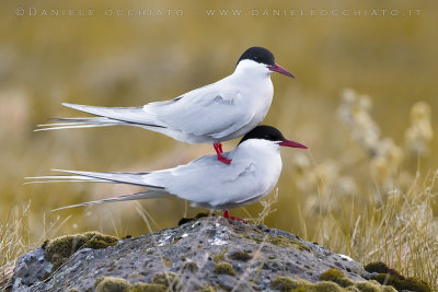
<instances>
[{"instance_id":1,"label":"long pointed rear feathers of upper tern, above its thin streamers","mask_svg":"<svg viewBox=\"0 0 438 292\"><path fill-rule=\"evenodd\" d=\"M67 104L64 106L84 112L91 115L106 117L108 119L140 124L143 126L152 127L163 127L162 121L160 121L153 114L145 112L143 107L101 107L101 106L89 106L89 105L78 105L78 104Z\"/></svg>"}]
</instances>

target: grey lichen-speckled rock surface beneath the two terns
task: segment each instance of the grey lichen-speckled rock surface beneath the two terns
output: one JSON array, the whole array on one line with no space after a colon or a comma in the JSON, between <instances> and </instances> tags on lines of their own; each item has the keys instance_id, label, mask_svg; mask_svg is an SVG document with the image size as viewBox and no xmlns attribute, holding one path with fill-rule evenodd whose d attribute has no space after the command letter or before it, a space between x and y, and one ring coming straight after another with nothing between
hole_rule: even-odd
<instances>
[{"instance_id":1,"label":"grey lichen-speckled rock surface beneath the two terns","mask_svg":"<svg viewBox=\"0 0 438 292\"><path fill-rule=\"evenodd\" d=\"M360 262L293 234L219 217L106 248L81 248L51 269L43 247L25 254L18 259L10 290L112 291L99 287L112 279L102 277L116 277L137 291L275 291L272 282L278 277L319 282L328 269L354 282L370 278Z\"/></svg>"}]
</instances>

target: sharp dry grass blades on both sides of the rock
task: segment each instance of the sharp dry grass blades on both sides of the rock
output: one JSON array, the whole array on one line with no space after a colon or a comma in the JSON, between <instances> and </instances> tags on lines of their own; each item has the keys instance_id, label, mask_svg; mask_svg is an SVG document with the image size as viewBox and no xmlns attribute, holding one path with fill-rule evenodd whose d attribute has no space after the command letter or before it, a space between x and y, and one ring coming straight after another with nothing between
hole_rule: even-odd
<instances>
[{"instance_id":1,"label":"sharp dry grass blades on both sides of the rock","mask_svg":"<svg viewBox=\"0 0 438 292\"><path fill-rule=\"evenodd\" d=\"M321 213L316 217L316 232L308 235L307 240L319 242L333 252L345 254L364 264L384 261L405 276L427 281L437 290L438 223L431 210L438 194L437 179L438 171L423 180L417 175L407 192L392 192L381 203L370 196L366 206L343 203L341 213ZM255 219L256 223L263 222L269 214L276 198L277 195L262 203L263 211ZM27 210L28 205L4 218L2 223L0 283L11 277L13 259L18 255L36 247L47 236L50 237L45 234L37 240L28 238ZM136 210L149 233L153 232L151 223L155 226L157 223L150 214L140 205L136 205ZM61 227L62 223L50 224L48 233L57 233L54 229ZM307 230L311 229L314 220L303 218L301 223L302 229Z\"/></svg>"}]
</instances>

